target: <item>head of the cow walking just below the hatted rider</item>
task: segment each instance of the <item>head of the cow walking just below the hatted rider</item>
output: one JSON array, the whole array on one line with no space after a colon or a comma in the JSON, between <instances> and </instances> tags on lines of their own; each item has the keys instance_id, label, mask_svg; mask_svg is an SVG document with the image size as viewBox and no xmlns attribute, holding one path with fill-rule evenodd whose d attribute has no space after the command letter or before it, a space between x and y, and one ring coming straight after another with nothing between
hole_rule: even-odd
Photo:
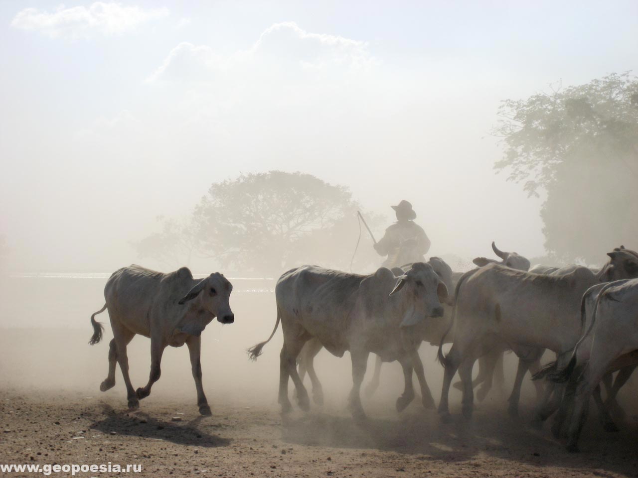
<instances>
[{"instance_id":1,"label":"head of the cow walking just below the hatted rider","mask_svg":"<svg viewBox=\"0 0 638 478\"><path fill-rule=\"evenodd\" d=\"M401 327L416 325L426 317L443 315L441 301L447 299L447 287L430 264L414 263L406 273L397 277L390 296L398 293L405 301Z\"/></svg>"}]
</instances>

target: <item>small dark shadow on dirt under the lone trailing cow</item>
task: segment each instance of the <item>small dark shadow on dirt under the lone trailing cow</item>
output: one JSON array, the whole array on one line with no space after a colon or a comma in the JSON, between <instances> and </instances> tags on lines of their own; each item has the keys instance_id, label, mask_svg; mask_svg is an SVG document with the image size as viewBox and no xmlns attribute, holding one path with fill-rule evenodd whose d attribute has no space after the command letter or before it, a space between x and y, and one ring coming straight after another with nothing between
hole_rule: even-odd
<instances>
[{"instance_id":1,"label":"small dark shadow on dirt under the lone trailing cow","mask_svg":"<svg viewBox=\"0 0 638 478\"><path fill-rule=\"evenodd\" d=\"M94 422L90 428L107 435L115 432L117 435L166 440L178 445L205 448L225 447L230 444L228 438L200 430L199 424L204 419L201 416L191 421L173 422L158 420L140 411L134 414L126 411L117 412L107 403L101 403L101 407L105 418Z\"/></svg>"}]
</instances>

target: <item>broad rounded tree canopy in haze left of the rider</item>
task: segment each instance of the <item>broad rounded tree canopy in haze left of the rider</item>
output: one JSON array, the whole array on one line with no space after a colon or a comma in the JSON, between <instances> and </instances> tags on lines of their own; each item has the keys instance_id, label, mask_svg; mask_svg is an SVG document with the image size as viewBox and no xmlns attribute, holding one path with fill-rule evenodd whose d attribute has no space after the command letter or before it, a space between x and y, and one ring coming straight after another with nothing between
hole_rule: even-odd
<instances>
[{"instance_id":1,"label":"broad rounded tree canopy in haze left of the rider","mask_svg":"<svg viewBox=\"0 0 638 478\"><path fill-rule=\"evenodd\" d=\"M278 276L306 263L347 269L359 233L357 208L348 189L312 175L249 173L212 184L189 221L165 221L137 248L165 264L194 255L235 273ZM373 249L362 247L355 264L369 268L375 260Z\"/></svg>"}]
</instances>

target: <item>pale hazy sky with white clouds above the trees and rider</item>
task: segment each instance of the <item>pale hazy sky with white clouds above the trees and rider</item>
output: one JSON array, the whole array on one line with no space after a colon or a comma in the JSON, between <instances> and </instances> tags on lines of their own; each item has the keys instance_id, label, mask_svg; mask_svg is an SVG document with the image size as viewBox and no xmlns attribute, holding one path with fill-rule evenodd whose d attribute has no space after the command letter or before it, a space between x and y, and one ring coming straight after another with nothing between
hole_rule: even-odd
<instances>
[{"instance_id":1,"label":"pale hazy sky with white clouds above the trees and rider","mask_svg":"<svg viewBox=\"0 0 638 478\"><path fill-rule=\"evenodd\" d=\"M14 269L113 270L241 171L411 201L432 254L544 253L494 175L501 99L638 69L638 3L0 3L0 234ZM353 238L355 240L355 238Z\"/></svg>"}]
</instances>

